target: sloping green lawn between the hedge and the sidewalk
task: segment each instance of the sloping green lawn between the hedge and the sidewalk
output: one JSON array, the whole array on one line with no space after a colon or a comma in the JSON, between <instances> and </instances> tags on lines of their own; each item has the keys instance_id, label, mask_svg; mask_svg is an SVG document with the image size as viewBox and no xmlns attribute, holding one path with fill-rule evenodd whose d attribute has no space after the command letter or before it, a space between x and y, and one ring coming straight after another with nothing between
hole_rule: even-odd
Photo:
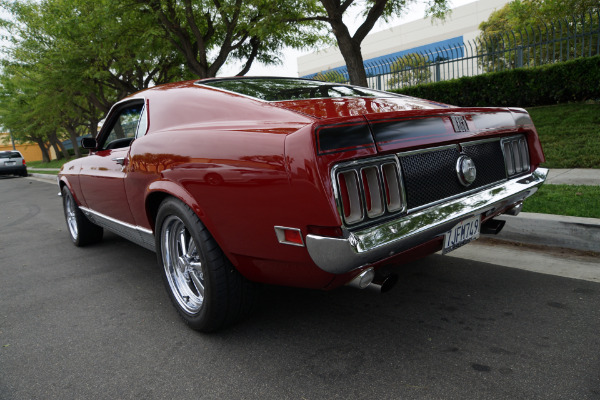
<instances>
[{"instance_id":1,"label":"sloping green lawn between the hedge and the sidewalk","mask_svg":"<svg viewBox=\"0 0 600 400\"><path fill-rule=\"evenodd\" d=\"M546 155L546 168L600 168L600 104L527 109Z\"/></svg>"}]
</instances>

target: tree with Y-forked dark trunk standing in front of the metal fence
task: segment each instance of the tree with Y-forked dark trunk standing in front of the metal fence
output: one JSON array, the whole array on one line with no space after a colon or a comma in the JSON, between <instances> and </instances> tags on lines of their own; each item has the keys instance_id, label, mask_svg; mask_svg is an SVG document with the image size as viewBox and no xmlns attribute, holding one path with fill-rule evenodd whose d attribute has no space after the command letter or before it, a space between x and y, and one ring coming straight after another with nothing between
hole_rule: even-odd
<instances>
[{"instance_id":1,"label":"tree with Y-forked dark trunk standing in front of the metal fence","mask_svg":"<svg viewBox=\"0 0 600 400\"><path fill-rule=\"evenodd\" d=\"M315 15L314 20L327 22L337 40L338 47L346 62L350 83L358 86L368 86L367 74L365 72L362 57L361 43L375 26L375 23L383 18L401 15L410 4L418 0L320 0L325 14ZM442 18L448 10L448 0L428 0L427 14L435 18ZM351 7L362 7L364 18L361 25L354 34L351 34L343 17L348 14Z\"/></svg>"}]
</instances>

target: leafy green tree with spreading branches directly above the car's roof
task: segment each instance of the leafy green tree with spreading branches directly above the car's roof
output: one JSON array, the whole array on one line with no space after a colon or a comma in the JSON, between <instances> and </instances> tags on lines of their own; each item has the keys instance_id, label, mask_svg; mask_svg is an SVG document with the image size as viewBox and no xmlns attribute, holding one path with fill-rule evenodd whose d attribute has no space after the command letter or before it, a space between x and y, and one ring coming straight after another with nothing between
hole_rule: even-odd
<instances>
[{"instance_id":1,"label":"leafy green tree with spreading branches directly above the car's roof","mask_svg":"<svg viewBox=\"0 0 600 400\"><path fill-rule=\"evenodd\" d=\"M316 0L137 0L152 13L187 67L209 78L228 61L242 61L245 75L256 60L279 62L284 47L306 48L321 40L321 23L305 19Z\"/></svg>"}]
</instances>

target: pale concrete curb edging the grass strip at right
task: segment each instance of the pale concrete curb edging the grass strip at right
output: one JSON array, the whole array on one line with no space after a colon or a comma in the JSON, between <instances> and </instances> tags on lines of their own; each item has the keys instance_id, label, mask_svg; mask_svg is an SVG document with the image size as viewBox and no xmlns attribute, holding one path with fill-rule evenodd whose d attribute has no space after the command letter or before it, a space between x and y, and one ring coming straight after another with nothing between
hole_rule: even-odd
<instances>
[{"instance_id":1,"label":"pale concrete curb edging the grass strip at right","mask_svg":"<svg viewBox=\"0 0 600 400\"><path fill-rule=\"evenodd\" d=\"M597 218L520 213L497 219L506 221L506 225L498 235L490 236L495 239L600 253Z\"/></svg>"}]
</instances>

